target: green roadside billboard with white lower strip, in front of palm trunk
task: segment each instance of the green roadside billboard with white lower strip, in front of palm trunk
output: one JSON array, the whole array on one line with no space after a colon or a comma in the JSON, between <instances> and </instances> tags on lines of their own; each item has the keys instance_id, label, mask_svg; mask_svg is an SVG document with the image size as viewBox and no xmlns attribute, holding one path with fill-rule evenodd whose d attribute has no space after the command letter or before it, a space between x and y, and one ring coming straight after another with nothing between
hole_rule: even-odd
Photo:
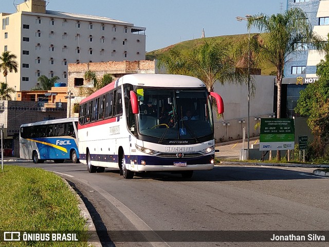
<instances>
[{"instance_id":1,"label":"green roadside billboard with white lower strip, in front of palm trunk","mask_svg":"<svg viewBox=\"0 0 329 247\"><path fill-rule=\"evenodd\" d=\"M261 119L259 150L288 150L294 147L294 119Z\"/></svg>"}]
</instances>

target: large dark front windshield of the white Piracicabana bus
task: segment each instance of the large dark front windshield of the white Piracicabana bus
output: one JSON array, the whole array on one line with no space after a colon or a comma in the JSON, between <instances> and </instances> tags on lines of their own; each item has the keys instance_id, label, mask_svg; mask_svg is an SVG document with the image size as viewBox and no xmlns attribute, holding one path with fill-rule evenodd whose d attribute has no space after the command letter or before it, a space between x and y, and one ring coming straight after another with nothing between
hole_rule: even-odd
<instances>
[{"instance_id":1,"label":"large dark front windshield of the white Piracicabana bus","mask_svg":"<svg viewBox=\"0 0 329 247\"><path fill-rule=\"evenodd\" d=\"M187 140L213 135L208 91L137 88L140 135L162 140Z\"/></svg>"}]
</instances>

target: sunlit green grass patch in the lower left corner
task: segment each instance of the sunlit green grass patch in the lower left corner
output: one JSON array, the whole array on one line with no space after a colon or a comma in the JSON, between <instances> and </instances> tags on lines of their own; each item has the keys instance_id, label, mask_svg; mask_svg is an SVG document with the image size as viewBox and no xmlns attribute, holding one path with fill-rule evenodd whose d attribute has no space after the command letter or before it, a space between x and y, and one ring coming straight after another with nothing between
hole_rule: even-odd
<instances>
[{"instance_id":1,"label":"sunlit green grass patch in the lower left corner","mask_svg":"<svg viewBox=\"0 0 329 247\"><path fill-rule=\"evenodd\" d=\"M78 200L64 181L41 168L0 171L0 231L86 231ZM87 246L87 242L0 242L0 246Z\"/></svg>"}]
</instances>

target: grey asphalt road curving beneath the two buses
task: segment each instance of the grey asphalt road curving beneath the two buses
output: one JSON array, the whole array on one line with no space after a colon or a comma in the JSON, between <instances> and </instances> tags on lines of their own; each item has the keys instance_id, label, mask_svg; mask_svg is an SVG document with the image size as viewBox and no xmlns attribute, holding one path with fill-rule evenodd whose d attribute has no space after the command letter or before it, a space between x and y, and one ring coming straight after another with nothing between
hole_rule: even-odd
<instances>
[{"instance_id":1,"label":"grey asphalt road curving beneath the two buses","mask_svg":"<svg viewBox=\"0 0 329 247\"><path fill-rule=\"evenodd\" d=\"M216 166L195 172L190 180L165 173L124 180L117 170L89 174L83 164L11 163L42 167L68 180L87 205L103 246L327 246L235 242L242 241L245 232L227 242L209 242L205 233L225 233L203 232L327 231L329 178L312 175L313 168ZM146 242L129 242L136 232L123 230L144 231ZM173 230L184 232L168 236ZM141 241L137 233L133 238ZM262 232L248 234L248 239L250 234L257 239Z\"/></svg>"}]
</instances>

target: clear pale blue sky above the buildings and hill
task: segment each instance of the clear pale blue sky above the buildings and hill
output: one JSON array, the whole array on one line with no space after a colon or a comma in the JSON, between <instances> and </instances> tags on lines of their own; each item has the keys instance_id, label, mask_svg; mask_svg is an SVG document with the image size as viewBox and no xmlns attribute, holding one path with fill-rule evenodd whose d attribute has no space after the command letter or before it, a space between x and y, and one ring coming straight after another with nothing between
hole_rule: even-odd
<instances>
[{"instance_id":1,"label":"clear pale blue sky above the buildings and hill","mask_svg":"<svg viewBox=\"0 0 329 247\"><path fill-rule=\"evenodd\" d=\"M287 0L47 0L48 10L106 16L145 27L146 50L152 51L201 37L246 33L235 16L273 14L286 9ZM15 12L23 0L1 0L0 12ZM280 4L282 3L282 4ZM282 6L282 7L281 7ZM251 30L251 32L257 30Z\"/></svg>"}]
</instances>

